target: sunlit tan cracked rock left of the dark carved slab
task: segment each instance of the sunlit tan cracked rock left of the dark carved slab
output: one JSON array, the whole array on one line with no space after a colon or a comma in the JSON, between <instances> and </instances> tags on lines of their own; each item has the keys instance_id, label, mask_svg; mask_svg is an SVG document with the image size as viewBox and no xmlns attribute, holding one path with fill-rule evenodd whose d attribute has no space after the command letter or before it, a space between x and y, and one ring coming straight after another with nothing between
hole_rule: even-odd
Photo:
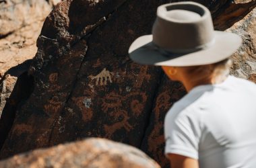
<instances>
[{"instance_id":1,"label":"sunlit tan cracked rock left of the dark carved slab","mask_svg":"<svg viewBox=\"0 0 256 168\"><path fill-rule=\"evenodd\" d=\"M0 116L17 77L28 71L29 64L23 62L36 54L36 39L55 3L57 1L0 1Z\"/></svg>"}]
</instances>

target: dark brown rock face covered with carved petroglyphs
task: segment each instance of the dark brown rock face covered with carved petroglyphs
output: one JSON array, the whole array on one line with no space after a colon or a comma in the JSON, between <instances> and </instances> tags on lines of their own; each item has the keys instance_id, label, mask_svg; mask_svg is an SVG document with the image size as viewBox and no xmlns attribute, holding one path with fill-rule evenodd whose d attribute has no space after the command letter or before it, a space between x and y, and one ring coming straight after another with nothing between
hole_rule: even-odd
<instances>
[{"instance_id":1,"label":"dark brown rock face covered with carved petroglyphs","mask_svg":"<svg viewBox=\"0 0 256 168\"><path fill-rule=\"evenodd\" d=\"M14 121L8 130L9 124L1 123L9 117L1 118L0 131L5 130L5 136L0 138L0 157L97 136L131 144L168 167L163 152L164 116L185 89L168 80L159 67L137 65L127 55L135 38L151 33L156 8L167 2L59 3L38 38L38 51L26 75L30 82L22 84L31 85L28 99L10 101L3 110L3 115L13 114ZM199 2L211 9L216 29L223 29L220 16L225 9L233 9L233 3ZM255 1L245 4L249 6L243 15L251 15ZM229 14L228 26L238 21L231 17L235 12ZM247 22L247 17L241 22ZM241 50L251 44L244 41Z\"/></svg>"}]
</instances>

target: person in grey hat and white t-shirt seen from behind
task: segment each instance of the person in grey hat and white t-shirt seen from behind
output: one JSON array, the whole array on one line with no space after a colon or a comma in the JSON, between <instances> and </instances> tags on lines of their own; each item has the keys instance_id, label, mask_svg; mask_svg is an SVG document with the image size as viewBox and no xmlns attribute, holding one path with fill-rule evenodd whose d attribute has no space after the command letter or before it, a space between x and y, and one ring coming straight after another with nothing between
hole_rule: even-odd
<instances>
[{"instance_id":1,"label":"person in grey hat and white t-shirt seen from behind","mask_svg":"<svg viewBox=\"0 0 256 168\"><path fill-rule=\"evenodd\" d=\"M164 120L171 167L256 167L256 86L229 75L241 38L215 31L210 11L193 2L157 10L152 34L137 38L129 56L161 66L187 95Z\"/></svg>"}]
</instances>

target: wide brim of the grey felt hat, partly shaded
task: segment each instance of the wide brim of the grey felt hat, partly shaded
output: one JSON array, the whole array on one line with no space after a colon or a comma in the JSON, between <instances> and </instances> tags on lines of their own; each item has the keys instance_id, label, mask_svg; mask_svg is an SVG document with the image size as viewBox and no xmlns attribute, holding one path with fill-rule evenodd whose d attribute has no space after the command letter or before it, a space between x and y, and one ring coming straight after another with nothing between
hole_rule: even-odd
<instances>
[{"instance_id":1,"label":"wide brim of the grey felt hat, partly shaded","mask_svg":"<svg viewBox=\"0 0 256 168\"><path fill-rule=\"evenodd\" d=\"M215 42L212 46L186 54L172 53L170 56L156 49L152 35L141 36L131 44L129 56L143 65L187 67L219 62L231 56L241 46L242 39L236 34L220 31L214 31L214 34Z\"/></svg>"}]
</instances>

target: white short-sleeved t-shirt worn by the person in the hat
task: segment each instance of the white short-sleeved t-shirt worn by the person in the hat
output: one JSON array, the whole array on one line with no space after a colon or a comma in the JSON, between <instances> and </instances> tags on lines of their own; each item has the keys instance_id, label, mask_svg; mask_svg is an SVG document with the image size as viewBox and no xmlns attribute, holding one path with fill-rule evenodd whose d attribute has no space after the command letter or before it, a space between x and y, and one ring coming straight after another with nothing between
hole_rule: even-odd
<instances>
[{"instance_id":1,"label":"white short-sleeved t-shirt worn by the person in the hat","mask_svg":"<svg viewBox=\"0 0 256 168\"><path fill-rule=\"evenodd\" d=\"M256 85L229 76L200 85L174 103L164 121L165 153L199 167L256 167Z\"/></svg>"}]
</instances>

